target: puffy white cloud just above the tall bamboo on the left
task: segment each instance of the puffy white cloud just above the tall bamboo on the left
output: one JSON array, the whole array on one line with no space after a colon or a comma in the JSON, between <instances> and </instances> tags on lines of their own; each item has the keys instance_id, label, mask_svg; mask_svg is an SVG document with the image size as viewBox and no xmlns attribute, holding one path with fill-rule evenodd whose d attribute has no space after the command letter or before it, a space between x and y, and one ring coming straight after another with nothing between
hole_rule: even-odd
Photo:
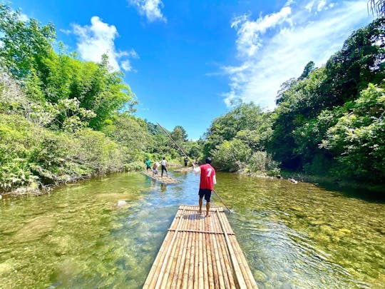
<instances>
[{"instance_id":1,"label":"puffy white cloud just above the tall bamboo on the left","mask_svg":"<svg viewBox=\"0 0 385 289\"><path fill-rule=\"evenodd\" d=\"M113 71L133 70L128 57L138 58L139 56L133 49L116 51L114 41L118 37L118 31L115 26L104 23L98 16L93 16L91 26L73 24L73 33L78 36L78 52L82 59L99 62L102 55L107 54Z\"/></svg>"}]
</instances>

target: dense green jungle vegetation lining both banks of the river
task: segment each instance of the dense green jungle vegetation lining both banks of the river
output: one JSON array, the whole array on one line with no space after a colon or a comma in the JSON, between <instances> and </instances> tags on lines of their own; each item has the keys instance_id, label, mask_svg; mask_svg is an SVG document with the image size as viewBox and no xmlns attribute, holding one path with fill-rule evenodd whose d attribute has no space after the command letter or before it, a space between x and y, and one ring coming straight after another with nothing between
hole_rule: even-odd
<instances>
[{"instance_id":1,"label":"dense green jungle vegetation lining both banks of the river","mask_svg":"<svg viewBox=\"0 0 385 289\"><path fill-rule=\"evenodd\" d=\"M224 171L281 169L366 183L385 180L385 19L355 31L327 64L312 61L282 83L277 108L239 103L199 141L171 135L191 158ZM0 4L0 191L37 189L143 161L183 156L154 124L135 116L135 94L101 63L56 41L55 26L21 20Z\"/></svg>"}]
</instances>

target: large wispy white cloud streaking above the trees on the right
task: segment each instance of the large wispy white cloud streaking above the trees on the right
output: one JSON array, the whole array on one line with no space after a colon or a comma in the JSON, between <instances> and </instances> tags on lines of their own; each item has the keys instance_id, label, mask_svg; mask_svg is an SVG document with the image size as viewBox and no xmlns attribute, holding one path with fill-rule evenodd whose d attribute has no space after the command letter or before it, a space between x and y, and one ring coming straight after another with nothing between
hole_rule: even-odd
<instances>
[{"instance_id":1,"label":"large wispy white cloud streaking above the trees on the right","mask_svg":"<svg viewBox=\"0 0 385 289\"><path fill-rule=\"evenodd\" d=\"M233 19L238 66L222 67L230 79L225 103L253 101L274 108L280 85L298 77L309 61L324 64L354 29L370 21L366 0L334 3L287 1L280 11Z\"/></svg>"}]
</instances>

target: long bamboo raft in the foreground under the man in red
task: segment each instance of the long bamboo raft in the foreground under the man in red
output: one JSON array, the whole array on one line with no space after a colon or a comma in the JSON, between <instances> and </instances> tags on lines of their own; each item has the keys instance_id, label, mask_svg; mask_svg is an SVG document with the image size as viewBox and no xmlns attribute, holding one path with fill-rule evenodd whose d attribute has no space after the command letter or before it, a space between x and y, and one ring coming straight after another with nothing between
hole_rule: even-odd
<instances>
[{"instance_id":1,"label":"long bamboo raft in the foreground under the man in red","mask_svg":"<svg viewBox=\"0 0 385 289\"><path fill-rule=\"evenodd\" d=\"M179 207L143 288L257 288L223 208L198 210Z\"/></svg>"}]
</instances>

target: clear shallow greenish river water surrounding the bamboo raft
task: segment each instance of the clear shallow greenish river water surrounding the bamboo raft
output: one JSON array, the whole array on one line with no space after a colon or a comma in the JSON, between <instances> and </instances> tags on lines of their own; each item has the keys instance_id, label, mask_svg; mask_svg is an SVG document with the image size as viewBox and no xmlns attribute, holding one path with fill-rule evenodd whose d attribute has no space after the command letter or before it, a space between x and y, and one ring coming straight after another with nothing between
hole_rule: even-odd
<instances>
[{"instance_id":1,"label":"clear shallow greenish river water surrounding the bamboo raft","mask_svg":"<svg viewBox=\"0 0 385 289\"><path fill-rule=\"evenodd\" d=\"M178 206L197 203L199 177L174 176L167 187L122 173L3 199L0 288L141 288ZM384 203L309 183L217 181L260 288L385 287Z\"/></svg>"}]
</instances>

